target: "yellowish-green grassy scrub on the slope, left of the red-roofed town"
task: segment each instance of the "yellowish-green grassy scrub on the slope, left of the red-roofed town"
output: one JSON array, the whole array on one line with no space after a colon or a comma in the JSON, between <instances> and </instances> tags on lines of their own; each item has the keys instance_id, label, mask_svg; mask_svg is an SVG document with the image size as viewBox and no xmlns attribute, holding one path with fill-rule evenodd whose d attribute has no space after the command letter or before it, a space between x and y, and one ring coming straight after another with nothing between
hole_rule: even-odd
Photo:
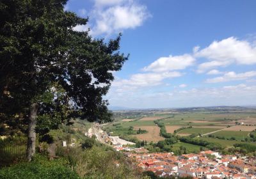
<instances>
[{"instance_id":1,"label":"yellowish-green grassy scrub on the slope, left of the red-roofed town","mask_svg":"<svg viewBox=\"0 0 256 179\"><path fill-rule=\"evenodd\" d=\"M74 149L70 163L81 178L142 178L120 152L106 146L93 146L90 150Z\"/></svg>"}]
</instances>

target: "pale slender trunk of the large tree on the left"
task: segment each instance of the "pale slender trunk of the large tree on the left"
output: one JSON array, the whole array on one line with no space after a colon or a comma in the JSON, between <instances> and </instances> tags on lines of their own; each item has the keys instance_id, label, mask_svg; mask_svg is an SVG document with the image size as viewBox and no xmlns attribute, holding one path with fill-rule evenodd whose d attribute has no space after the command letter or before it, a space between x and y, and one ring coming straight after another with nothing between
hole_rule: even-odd
<instances>
[{"instance_id":1,"label":"pale slender trunk of the large tree on the left","mask_svg":"<svg viewBox=\"0 0 256 179\"><path fill-rule=\"evenodd\" d=\"M36 152L36 117L37 117L38 104L32 103L30 105L29 125L28 125L28 146L27 146L27 159L31 161Z\"/></svg>"}]
</instances>

